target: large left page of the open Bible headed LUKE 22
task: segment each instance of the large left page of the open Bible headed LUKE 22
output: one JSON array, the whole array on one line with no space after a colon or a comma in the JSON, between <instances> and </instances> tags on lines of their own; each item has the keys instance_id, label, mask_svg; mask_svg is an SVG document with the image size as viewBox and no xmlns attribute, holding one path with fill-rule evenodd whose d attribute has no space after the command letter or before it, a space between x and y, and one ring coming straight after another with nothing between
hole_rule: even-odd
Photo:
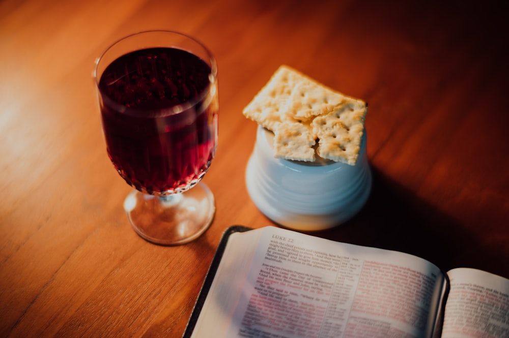
<instances>
[{"instance_id":1,"label":"large left page of the open Bible headed LUKE 22","mask_svg":"<svg viewBox=\"0 0 509 338\"><path fill-rule=\"evenodd\" d=\"M218 270L216 285L230 300L213 286L193 337L432 336L444 282L435 265L276 227L238 237L254 232L259 239L243 239L232 257L223 256L221 263L235 265L242 278L234 269ZM258 246L249 264L233 264L253 242Z\"/></svg>"}]
</instances>

